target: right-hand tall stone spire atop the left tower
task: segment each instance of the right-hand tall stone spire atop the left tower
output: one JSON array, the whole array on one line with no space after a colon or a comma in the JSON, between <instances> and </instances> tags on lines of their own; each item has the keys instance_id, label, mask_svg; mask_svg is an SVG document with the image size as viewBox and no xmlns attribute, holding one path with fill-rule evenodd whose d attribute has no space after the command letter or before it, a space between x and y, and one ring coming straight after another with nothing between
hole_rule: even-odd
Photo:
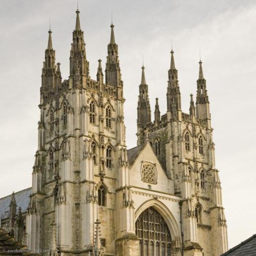
<instances>
[{"instance_id":1,"label":"right-hand tall stone spire atop the left tower","mask_svg":"<svg viewBox=\"0 0 256 256\"><path fill-rule=\"evenodd\" d=\"M115 42L114 25L111 24L110 43L108 45L108 56L106 57L105 79L106 84L111 86L123 87L121 79L121 70L118 58L118 45Z\"/></svg>"}]
</instances>

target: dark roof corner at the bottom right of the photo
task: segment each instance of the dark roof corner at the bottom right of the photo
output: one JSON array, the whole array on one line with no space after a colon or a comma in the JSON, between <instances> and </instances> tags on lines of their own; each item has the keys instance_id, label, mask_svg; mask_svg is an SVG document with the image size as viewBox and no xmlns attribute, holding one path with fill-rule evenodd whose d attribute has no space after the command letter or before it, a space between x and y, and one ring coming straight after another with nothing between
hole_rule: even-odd
<instances>
[{"instance_id":1,"label":"dark roof corner at the bottom right of the photo","mask_svg":"<svg viewBox=\"0 0 256 256\"><path fill-rule=\"evenodd\" d=\"M221 256L255 256L256 255L256 234L248 238L241 244L229 249L227 252L223 253Z\"/></svg>"}]
</instances>

